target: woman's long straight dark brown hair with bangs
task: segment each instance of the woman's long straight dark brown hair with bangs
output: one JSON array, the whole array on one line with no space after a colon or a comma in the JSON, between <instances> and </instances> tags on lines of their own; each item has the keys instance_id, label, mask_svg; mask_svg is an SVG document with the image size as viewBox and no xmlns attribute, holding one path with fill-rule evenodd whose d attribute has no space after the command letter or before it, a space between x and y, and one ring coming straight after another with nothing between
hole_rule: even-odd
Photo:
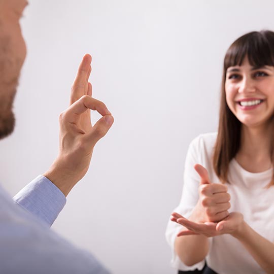
<instances>
[{"instance_id":1,"label":"woman's long straight dark brown hair with bangs","mask_svg":"<svg viewBox=\"0 0 274 274\"><path fill-rule=\"evenodd\" d=\"M241 141L241 122L226 103L226 71L230 66L242 65L245 56L248 57L252 66L274 66L274 32L270 30L249 32L234 41L226 52L223 64L219 129L213 155L214 170L223 183L227 182L229 163L236 156ZM270 155L274 163L272 148ZM268 186L271 185L274 185L274 174Z\"/></svg>"}]
</instances>

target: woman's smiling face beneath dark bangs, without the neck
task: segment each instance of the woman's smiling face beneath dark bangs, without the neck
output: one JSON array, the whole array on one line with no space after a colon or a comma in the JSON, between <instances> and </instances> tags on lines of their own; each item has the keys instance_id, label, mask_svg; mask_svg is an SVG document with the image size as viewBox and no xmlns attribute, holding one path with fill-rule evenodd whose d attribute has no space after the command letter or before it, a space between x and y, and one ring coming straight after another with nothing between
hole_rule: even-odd
<instances>
[{"instance_id":1,"label":"woman's smiling face beneath dark bangs, without the neck","mask_svg":"<svg viewBox=\"0 0 274 274\"><path fill-rule=\"evenodd\" d=\"M226 102L248 127L266 123L274 114L274 66L252 66L247 56L241 66L230 66L225 79Z\"/></svg>"}]
</instances>

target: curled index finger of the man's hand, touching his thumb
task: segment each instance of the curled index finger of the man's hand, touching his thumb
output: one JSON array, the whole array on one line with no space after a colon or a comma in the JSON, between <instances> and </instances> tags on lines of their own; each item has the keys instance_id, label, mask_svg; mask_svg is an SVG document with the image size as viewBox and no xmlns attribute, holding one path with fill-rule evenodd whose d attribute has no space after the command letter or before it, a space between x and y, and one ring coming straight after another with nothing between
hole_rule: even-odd
<instances>
[{"instance_id":1,"label":"curled index finger of the man's hand, touching his thumb","mask_svg":"<svg viewBox=\"0 0 274 274\"><path fill-rule=\"evenodd\" d=\"M68 122L76 123L79 114L84 113L87 109L95 110L102 116L111 114L103 102L84 95L64 112L64 116Z\"/></svg>"}]
</instances>

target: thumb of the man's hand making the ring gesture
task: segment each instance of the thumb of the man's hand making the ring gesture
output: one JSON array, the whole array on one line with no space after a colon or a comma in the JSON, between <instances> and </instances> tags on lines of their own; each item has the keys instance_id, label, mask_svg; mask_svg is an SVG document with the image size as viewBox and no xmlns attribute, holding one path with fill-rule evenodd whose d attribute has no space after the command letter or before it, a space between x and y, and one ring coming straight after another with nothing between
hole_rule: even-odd
<instances>
[{"instance_id":1,"label":"thumb of the man's hand making the ring gesture","mask_svg":"<svg viewBox=\"0 0 274 274\"><path fill-rule=\"evenodd\" d=\"M105 115L99 119L96 124L92 127L90 132L88 132L83 139L86 143L95 146L95 144L104 137L114 122L114 118L111 115Z\"/></svg>"}]
</instances>

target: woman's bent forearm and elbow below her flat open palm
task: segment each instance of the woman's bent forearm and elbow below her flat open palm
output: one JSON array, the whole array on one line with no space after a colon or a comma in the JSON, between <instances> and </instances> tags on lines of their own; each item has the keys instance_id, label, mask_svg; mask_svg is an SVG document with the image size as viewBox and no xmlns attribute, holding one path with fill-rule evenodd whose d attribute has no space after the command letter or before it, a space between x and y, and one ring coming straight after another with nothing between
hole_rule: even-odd
<instances>
[{"instance_id":1,"label":"woman's bent forearm and elbow below her flat open palm","mask_svg":"<svg viewBox=\"0 0 274 274\"><path fill-rule=\"evenodd\" d=\"M203 235L177 237L175 240L175 251L184 264L191 266L202 261L208 254L208 237Z\"/></svg>"}]
</instances>

